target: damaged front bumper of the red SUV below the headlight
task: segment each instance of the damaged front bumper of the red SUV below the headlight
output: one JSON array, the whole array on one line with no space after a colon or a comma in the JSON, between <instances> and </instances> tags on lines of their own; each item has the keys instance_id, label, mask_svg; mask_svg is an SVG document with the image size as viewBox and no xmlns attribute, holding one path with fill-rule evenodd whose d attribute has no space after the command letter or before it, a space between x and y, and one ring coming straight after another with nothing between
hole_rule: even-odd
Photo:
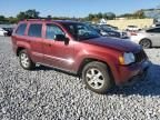
<instances>
[{"instance_id":1,"label":"damaged front bumper of the red SUV below the headlight","mask_svg":"<svg viewBox=\"0 0 160 120\"><path fill-rule=\"evenodd\" d=\"M144 60L140 63L136 63L128 67L119 66L119 73L116 80L116 84L123 84L127 82L134 81L136 79L144 79L151 62L149 60Z\"/></svg>"}]
</instances>

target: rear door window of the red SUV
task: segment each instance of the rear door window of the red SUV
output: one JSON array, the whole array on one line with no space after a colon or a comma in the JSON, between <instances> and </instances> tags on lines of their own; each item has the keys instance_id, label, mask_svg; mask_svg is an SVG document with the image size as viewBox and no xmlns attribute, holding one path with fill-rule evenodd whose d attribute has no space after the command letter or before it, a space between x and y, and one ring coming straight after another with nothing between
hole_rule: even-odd
<instances>
[{"instance_id":1,"label":"rear door window of the red SUV","mask_svg":"<svg viewBox=\"0 0 160 120\"><path fill-rule=\"evenodd\" d=\"M28 36L41 38L42 24L30 24Z\"/></svg>"}]
</instances>

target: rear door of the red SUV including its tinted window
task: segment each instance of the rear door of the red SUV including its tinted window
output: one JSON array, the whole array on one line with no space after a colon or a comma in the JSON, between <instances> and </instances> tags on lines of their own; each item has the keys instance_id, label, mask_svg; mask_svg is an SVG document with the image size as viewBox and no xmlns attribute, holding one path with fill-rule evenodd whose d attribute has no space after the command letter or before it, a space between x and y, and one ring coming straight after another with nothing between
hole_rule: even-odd
<instances>
[{"instance_id":1,"label":"rear door of the red SUV including its tinted window","mask_svg":"<svg viewBox=\"0 0 160 120\"><path fill-rule=\"evenodd\" d=\"M43 62L42 54L42 22L29 24L27 38L31 46L31 58L34 62Z\"/></svg>"}]
</instances>

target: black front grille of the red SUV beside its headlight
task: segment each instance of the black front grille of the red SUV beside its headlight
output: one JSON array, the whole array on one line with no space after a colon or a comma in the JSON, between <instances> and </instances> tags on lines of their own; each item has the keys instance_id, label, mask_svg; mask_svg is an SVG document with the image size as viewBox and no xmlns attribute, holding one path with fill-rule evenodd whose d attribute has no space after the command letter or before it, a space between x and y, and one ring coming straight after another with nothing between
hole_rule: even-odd
<instances>
[{"instance_id":1,"label":"black front grille of the red SUV beside its headlight","mask_svg":"<svg viewBox=\"0 0 160 120\"><path fill-rule=\"evenodd\" d=\"M134 53L134 57L136 57L136 62L141 62L148 58L143 50L140 50L139 52Z\"/></svg>"}]
</instances>

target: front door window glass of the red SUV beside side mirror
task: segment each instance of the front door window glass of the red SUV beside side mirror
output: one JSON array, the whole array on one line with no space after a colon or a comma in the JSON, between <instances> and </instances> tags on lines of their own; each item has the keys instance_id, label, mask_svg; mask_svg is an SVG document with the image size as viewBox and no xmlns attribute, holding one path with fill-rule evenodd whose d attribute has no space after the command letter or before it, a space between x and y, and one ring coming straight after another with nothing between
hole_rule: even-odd
<instances>
[{"instance_id":1,"label":"front door window glass of the red SUV beside side mirror","mask_svg":"<svg viewBox=\"0 0 160 120\"><path fill-rule=\"evenodd\" d=\"M56 34L64 36L64 32L58 26L47 24L46 38L53 40Z\"/></svg>"}]
</instances>

